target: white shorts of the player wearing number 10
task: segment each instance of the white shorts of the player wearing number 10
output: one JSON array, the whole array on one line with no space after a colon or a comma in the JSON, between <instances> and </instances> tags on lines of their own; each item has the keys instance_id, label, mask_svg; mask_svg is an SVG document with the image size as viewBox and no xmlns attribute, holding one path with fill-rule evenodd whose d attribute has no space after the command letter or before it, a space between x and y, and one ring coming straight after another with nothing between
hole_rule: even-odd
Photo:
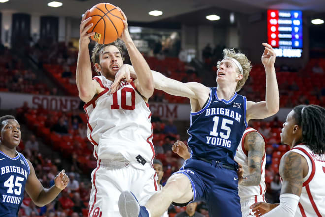
<instances>
[{"instance_id":1,"label":"white shorts of the player wearing number 10","mask_svg":"<svg viewBox=\"0 0 325 217\"><path fill-rule=\"evenodd\" d=\"M146 163L144 170L128 162L100 160L92 172L92 190L88 217L121 217L118 200L123 191L131 191L141 205L157 192L156 171Z\"/></svg>"}]
</instances>

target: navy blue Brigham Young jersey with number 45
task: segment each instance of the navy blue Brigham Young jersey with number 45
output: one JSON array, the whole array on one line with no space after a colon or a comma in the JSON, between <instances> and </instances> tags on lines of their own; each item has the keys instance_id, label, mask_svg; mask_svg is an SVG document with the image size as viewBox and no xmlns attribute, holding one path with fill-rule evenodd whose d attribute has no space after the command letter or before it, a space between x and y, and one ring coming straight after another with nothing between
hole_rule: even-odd
<instances>
[{"instance_id":1,"label":"navy blue Brigham Young jersey with number 45","mask_svg":"<svg viewBox=\"0 0 325 217\"><path fill-rule=\"evenodd\" d=\"M18 216L30 174L27 160L21 153L11 158L0 151L0 216Z\"/></svg>"}]
</instances>

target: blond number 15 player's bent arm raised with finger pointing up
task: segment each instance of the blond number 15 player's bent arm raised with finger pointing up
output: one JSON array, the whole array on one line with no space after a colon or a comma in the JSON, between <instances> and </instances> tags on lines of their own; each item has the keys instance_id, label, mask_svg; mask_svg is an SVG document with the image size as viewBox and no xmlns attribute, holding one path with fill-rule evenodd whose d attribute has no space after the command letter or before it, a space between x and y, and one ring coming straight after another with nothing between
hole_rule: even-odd
<instances>
[{"instance_id":1,"label":"blond number 15 player's bent arm raised with finger pointing up","mask_svg":"<svg viewBox=\"0 0 325 217\"><path fill-rule=\"evenodd\" d=\"M265 101L247 102L247 122L251 119L264 119L279 111L279 87L275 75L275 51L272 46L263 43L264 52L262 63L266 73L266 96Z\"/></svg>"}]
</instances>

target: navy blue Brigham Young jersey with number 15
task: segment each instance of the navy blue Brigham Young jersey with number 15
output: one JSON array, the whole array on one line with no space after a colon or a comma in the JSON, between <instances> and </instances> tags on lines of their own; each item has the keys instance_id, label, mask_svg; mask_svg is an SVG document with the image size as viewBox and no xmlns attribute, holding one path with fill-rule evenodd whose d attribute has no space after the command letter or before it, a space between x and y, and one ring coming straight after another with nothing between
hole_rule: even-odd
<instances>
[{"instance_id":1,"label":"navy blue Brigham Young jersey with number 15","mask_svg":"<svg viewBox=\"0 0 325 217\"><path fill-rule=\"evenodd\" d=\"M246 97L237 93L229 100L219 99L217 88L203 109L191 112L188 145L191 158L200 157L234 164L234 156L247 127Z\"/></svg>"}]
</instances>

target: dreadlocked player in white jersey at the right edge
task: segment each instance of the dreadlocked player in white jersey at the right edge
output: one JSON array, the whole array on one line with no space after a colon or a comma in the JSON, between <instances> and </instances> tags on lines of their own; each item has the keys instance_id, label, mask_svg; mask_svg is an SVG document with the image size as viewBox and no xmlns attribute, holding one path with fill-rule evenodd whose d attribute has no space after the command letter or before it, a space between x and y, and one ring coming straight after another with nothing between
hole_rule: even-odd
<instances>
[{"instance_id":1,"label":"dreadlocked player in white jersey at the right edge","mask_svg":"<svg viewBox=\"0 0 325 217\"><path fill-rule=\"evenodd\" d=\"M279 204L251 206L262 217L325 216L325 109L296 106L281 131L281 143L290 146L280 161L282 188Z\"/></svg>"}]
</instances>

